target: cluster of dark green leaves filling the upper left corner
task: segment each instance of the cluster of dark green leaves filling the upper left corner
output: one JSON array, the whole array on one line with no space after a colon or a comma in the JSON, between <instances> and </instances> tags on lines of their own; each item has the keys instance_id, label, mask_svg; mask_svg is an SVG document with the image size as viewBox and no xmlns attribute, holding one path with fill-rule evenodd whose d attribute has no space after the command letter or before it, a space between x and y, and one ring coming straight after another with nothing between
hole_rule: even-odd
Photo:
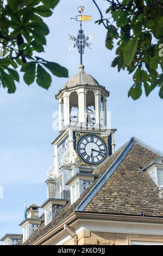
<instances>
[{"instance_id":1,"label":"cluster of dark green leaves filling the upper left corner","mask_svg":"<svg viewBox=\"0 0 163 256\"><path fill-rule=\"evenodd\" d=\"M36 78L36 83L46 89L52 82L47 70L55 76L68 77L66 68L34 56L35 52L44 52L49 34L43 18L51 16L58 3L59 0L0 0L0 81L8 93L16 90L18 70L24 73L28 85Z\"/></svg>"}]
</instances>

